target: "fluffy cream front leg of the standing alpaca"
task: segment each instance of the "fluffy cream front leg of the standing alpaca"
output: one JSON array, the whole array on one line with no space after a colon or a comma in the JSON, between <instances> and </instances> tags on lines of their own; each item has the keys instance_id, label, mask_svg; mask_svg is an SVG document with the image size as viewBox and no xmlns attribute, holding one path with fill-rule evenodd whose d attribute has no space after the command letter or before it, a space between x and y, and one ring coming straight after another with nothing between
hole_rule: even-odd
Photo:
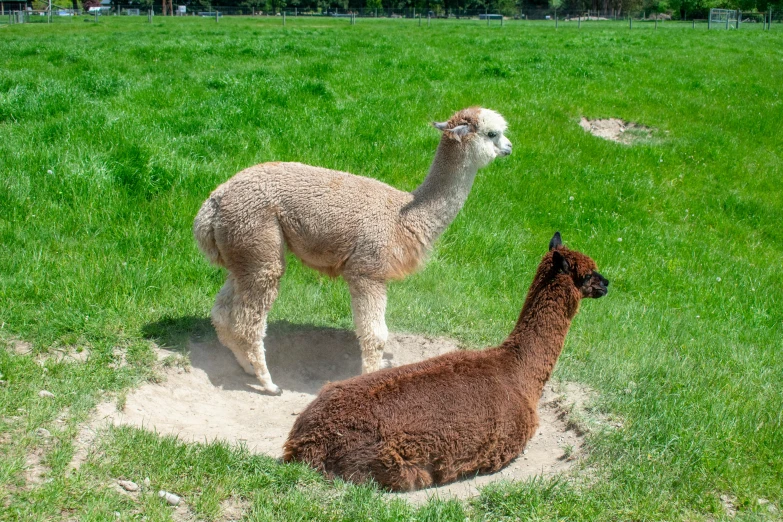
<instances>
[{"instance_id":1,"label":"fluffy cream front leg of the standing alpaca","mask_svg":"<svg viewBox=\"0 0 783 522\"><path fill-rule=\"evenodd\" d=\"M362 373L381 369L386 328L386 284L363 278L348 279L356 336L362 349Z\"/></svg>"}]
</instances>

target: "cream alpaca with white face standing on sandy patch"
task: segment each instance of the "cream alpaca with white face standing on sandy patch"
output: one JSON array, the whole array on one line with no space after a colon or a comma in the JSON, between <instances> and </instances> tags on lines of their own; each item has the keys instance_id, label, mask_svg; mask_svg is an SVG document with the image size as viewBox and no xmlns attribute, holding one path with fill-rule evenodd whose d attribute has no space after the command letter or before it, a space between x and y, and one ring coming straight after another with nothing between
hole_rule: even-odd
<instances>
[{"instance_id":1,"label":"cream alpaca with white face standing on sandy patch","mask_svg":"<svg viewBox=\"0 0 783 522\"><path fill-rule=\"evenodd\" d=\"M386 282L414 272L462 208L476 172L511 154L506 121L464 109L447 122L429 174L412 193L301 163L262 163L237 173L204 202L193 224L199 248L228 270L212 309L220 342L268 393L266 317L285 271L285 246L304 264L345 278L362 372L380 368L388 337Z\"/></svg>"}]
</instances>

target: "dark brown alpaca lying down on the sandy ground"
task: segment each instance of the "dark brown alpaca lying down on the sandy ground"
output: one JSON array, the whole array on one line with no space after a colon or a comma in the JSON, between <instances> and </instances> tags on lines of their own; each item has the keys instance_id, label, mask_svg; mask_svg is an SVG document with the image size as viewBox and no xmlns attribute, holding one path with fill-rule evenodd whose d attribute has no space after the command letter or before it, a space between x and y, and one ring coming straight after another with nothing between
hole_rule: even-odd
<instances>
[{"instance_id":1,"label":"dark brown alpaca lying down on the sandy ground","mask_svg":"<svg viewBox=\"0 0 783 522\"><path fill-rule=\"evenodd\" d=\"M608 284L555 233L503 344L327 384L294 423L283 459L394 491L498 471L538 427L580 300L606 295Z\"/></svg>"}]
</instances>

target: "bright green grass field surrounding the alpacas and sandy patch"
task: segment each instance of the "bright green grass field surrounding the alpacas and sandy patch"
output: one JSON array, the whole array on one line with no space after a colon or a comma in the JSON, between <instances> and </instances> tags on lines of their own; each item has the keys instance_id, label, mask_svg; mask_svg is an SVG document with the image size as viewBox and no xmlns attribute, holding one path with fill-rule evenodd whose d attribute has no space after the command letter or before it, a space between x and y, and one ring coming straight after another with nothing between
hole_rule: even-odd
<instances>
[{"instance_id":1,"label":"bright green grass field surrounding the alpacas and sandy patch","mask_svg":"<svg viewBox=\"0 0 783 522\"><path fill-rule=\"evenodd\" d=\"M143 476L206 520L227 499L248 520L715 520L724 504L780 517L779 27L57 22L0 27L1 520L170 519L157 496L114 488ZM439 139L428 123L470 105L506 117L514 153L479 173L426 268L391 286L389 328L501 341L559 230L611 280L583 303L553 376L593 388L594 411L616 420L588 436L585 462L423 507L129 428L67 469L95 404L156 378L154 343L214 335L225 276L191 235L214 187L276 160L412 190ZM620 145L582 116L653 132ZM350 329L345 284L290 258L271 321Z\"/></svg>"}]
</instances>

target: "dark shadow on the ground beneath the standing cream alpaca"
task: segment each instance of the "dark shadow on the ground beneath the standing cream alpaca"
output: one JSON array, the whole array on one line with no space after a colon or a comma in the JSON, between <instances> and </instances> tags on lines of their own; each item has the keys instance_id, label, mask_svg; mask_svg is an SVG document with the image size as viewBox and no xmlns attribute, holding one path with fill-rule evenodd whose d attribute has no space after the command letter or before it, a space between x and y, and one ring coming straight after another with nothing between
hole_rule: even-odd
<instances>
[{"instance_id":1,"label":"dark shadow on the ground beneath the standing cream alpaca","mask_svg":"<svg viewBox=\"0 0 783 522\"><path fill-rule=\"evenodd\" d=\"M188 355L190 364L214 386L262 391L256 377L245 373L220 344L207 318L164 318L147 324L142 332L162 348ZM327 382L361 373L359 341L351 330L279 321L267 328L264 345L269 371L285 391L316 394Z\"/></svg>"}]
</instances>

